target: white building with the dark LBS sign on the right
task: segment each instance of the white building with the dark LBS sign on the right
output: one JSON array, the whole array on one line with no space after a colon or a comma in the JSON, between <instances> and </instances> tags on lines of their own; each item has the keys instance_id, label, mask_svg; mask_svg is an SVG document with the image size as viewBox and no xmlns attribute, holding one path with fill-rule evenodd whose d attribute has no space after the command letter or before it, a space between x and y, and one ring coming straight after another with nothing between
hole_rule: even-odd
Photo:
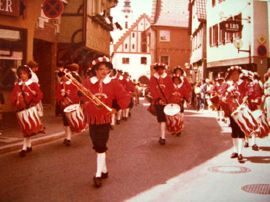
<instances>
[{"instance_id":1,"label":"white building with the dark LBS sign on the right","mask_svg":"<svg viewBox=\"0 0 270 202\"><path fill-rule=\"evenodd\" d=\"M210 79L223 76L231 65L257 71L262 76L267 71L267 54L259 56L257 48L264 45L268 50L267 2L258 0L207 0L207 70ZM224 20L240 21L241 32L229 33L220 29ZM259 42L264 37L265 41ZM240 38L238 52L234 40ZM243 52L241 50L250 50Z\"/></svg>"}]
</instances>

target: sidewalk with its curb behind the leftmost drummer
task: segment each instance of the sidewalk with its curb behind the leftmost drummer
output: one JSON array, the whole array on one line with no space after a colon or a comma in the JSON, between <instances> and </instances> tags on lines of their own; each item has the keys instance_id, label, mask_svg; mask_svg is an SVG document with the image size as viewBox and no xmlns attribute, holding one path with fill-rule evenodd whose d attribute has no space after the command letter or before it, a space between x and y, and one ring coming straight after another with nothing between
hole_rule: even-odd
<instances>
[{"instance_id":1,"label":"sidewalk with its curb behind the leftmost drummer","mask_svg":"<svg viewBox=\"0 0 270 202\"><path fill-rule=\"evenodd\" d=\"M54 109L46 107L43 110L41 121L45 127L46 133L39 133L31 137L33 146L64 137L62 117L56 117L54 115ZM3 113L0 133L0 154L20 150L22 148L23 136L15 112Z\"/></svg>"}]
</instances>

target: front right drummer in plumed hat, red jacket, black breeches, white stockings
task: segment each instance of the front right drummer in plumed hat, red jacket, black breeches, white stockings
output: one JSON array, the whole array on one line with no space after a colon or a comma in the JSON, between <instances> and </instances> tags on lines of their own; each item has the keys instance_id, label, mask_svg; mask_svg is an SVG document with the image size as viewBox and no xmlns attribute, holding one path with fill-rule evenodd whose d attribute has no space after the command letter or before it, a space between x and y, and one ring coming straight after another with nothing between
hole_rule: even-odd
<instances>
[{"instance_id":1,"label":"front right drummer in plumed hat, red jacket, black breeches, white stockings","mask_svg":"<svg viewBox=\"0 0 270 202\"><path fill-rule=\"evenodd\" d=\"M252 97L253 89L246 81L239 78L242 68L239 66L231 66L228 68L228 76L231 78L231 85L226 83L222 85L221 101L225 104L228 110L225 111L225 116L229 116L231 126L231 137L233 144L233 153L230 158L237 158L238 161L242 160L242 149L245 142L245 135L240 127L236 124L230 116L239 104L242 104L246 98Z\"/></svg>"}]
</instances>

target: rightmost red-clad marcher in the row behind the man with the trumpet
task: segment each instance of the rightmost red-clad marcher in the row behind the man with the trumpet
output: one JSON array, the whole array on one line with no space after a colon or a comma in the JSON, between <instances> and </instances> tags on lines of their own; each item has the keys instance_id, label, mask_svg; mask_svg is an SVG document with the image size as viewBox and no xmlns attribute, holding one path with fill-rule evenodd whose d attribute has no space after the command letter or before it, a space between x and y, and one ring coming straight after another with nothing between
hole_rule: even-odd
<instances>
[{"instance_id":1,"label":"rightmost red-clad marcher in the row behind the man with the trumpet","mask_svg":"<svg viewBox=\"0 0 270 202\"><path fill-rule=\"evenodd\" d=\"M124 72L123 79L120 81L124 89L130 94L130 102L128 107L123 112L123 120L127 120L127 117L131 116L131 109L133 107L133 94L136 91L133 82L129 79L129 73Z\"/></svg>"}]
</instances>

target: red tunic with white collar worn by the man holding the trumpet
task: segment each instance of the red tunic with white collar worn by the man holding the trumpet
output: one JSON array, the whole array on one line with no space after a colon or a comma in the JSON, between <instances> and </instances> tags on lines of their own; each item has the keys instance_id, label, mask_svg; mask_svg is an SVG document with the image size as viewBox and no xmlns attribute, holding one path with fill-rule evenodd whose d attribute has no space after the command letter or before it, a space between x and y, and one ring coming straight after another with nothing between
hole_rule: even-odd
<instances>
[{"instance_id":1,"label":"red tunic with white collar worn by the man holding the trumpet","mask_svg":"<svg viewBox=\"0 0 270 202\"><path fill-rule=\"evenodd\" d=\"M96 76L94 76L88 80L84 80L82 85L108 107L111 107L114 98L116 98L117 104L121 109L127 108L130 102L130 95L116 80L110 77L106 77L102 82L99 82ZM83 100L87 101L88 99L83 97ZM99 125L110 123L110 116L105 115L107 112L105 107L97 106L93 102L89 102L85 107L89 124Z\"/></svg>"}]
</instances>

